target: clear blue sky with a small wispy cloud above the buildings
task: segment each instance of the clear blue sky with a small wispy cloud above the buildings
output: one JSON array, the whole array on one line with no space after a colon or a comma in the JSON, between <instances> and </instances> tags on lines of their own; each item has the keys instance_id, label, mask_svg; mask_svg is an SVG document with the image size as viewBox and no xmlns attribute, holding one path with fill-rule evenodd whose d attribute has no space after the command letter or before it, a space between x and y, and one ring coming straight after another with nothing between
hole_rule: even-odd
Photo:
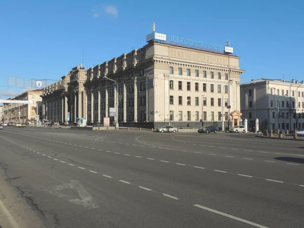
<instances>
[{"instance_id":1,"label":"clear blue sky with a small wispy cloud above the buildings","mask_svg":"<svg viewBox=\"0 0 304 228\"><path fill-rule=\"evenodd\" d=\"M0 0L0 99L22 91L8 76L60 80L67 70L139 49L156 31L225 45L256 78L304 80L301 1Z\"/></svg>"}]
</instances>

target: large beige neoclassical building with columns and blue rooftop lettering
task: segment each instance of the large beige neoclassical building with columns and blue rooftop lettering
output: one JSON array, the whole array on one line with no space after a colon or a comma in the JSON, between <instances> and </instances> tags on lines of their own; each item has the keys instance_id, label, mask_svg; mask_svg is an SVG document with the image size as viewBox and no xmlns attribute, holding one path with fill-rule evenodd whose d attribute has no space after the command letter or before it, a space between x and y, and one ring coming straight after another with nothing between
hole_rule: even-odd
<instances>
[{"instance_id":1,"label":"large beige neoclassical building with columns and blue rooftop lettering","mask_svg":"<svg viewBox=\"0 0 304 228\"><path fill-rule=\"evenodd\" d=\"M151 34L153 39L147 39L143 48L89 69L74 67L61 81L45 87L44 119L76 122L86 118L88 125L103 124L118 102L120 126L210 124L221 129L221 118L225 128L228 122L239 124L240 76L244 72L240 57L180 46ZM118 90L104 77L115 80ZM113 120L111 117L110 122Z\"/></svg>"}]
</instances>

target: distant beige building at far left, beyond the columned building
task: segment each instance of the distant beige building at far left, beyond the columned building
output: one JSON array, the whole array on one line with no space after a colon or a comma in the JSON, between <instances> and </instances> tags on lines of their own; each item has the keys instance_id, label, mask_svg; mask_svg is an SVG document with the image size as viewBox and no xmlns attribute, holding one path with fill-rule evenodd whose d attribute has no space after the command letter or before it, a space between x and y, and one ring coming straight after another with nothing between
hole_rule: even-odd
<instances>
[{"instance_id":1,"label":"distant beige building at far left, beyond the columned building","mask_svg":"<svg viewBox=\"0 0 304 228\"><path fill-rule=\"evenodd\" d=\"M5 123L24 123L35 124L36 121L42 120L42 89L26 91L16 97L8 100L25 100L33 101L32 104L21 103L4 103L3 119Z\"/></svg>"}]
</instances>

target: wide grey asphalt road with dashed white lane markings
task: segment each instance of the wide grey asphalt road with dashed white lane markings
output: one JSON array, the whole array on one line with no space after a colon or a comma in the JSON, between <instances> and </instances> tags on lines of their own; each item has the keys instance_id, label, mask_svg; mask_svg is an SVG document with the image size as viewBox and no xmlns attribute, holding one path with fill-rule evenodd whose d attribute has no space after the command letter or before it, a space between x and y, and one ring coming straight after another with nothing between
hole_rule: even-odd
<instances>
[{"instance_id":1,"label":"wide grey asphalt road with dashed white lane markings","mask_svg":"<svg viewBox=\"0 0 304 228\"><path fill-rule=\"evenodd\" d=\"M31 227L304 227L303 142L5 127L0 155Z\"/></svg>"}]
</instances>

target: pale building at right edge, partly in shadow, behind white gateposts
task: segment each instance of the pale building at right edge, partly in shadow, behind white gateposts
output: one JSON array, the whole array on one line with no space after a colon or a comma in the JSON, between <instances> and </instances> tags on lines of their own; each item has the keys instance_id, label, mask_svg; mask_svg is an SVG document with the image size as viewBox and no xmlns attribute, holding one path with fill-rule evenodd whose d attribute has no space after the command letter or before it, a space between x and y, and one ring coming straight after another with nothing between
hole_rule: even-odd
<instances>
[{"instance_id":1,"label":"pale building at right edge, partly in shadow, behind white gateposts","mask_svg":"<svg viewBox=\"0 0 304 228\"><path fill-rule=\"evenodd\" d=\"M241 85L241 112L248 128L294 130L304 127L304 81L257 79Z\"/></svg>"}]
</instances>

